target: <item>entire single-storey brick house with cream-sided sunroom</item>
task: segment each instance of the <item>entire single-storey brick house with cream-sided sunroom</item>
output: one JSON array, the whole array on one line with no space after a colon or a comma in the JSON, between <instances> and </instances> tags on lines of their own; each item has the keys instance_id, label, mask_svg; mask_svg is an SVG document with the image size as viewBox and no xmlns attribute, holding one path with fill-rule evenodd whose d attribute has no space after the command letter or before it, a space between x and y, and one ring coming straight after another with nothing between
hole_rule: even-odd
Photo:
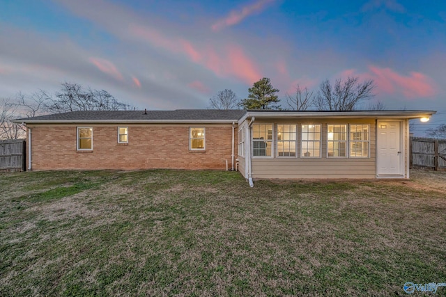
<instances>
[{"instance_id":1,"label":"entire single-storey brick house with cream-sided sunroom","mask_svg":"<svg viewBox=\"0 0 446 297\"><path fill-rule=\"evenodd\" d=\"M237 169L408 178L409 120L435 111L73 111L17 119L29 170Z\"/></svg>"}]
</instances>

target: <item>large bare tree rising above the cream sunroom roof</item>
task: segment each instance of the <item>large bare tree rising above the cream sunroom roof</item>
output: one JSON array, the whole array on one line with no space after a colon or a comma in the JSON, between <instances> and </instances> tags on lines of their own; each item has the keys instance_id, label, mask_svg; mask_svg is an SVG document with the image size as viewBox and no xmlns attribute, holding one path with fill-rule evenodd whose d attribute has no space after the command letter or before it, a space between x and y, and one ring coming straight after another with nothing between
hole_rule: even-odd
<instances>
[{"instance_id":1,"label":"large bare tree rising above the cream sunroom roof","mask_svg":"<svg viewBox=\"0 0 446 297\"><path fill-rule=\"evenodd\" d=\"M348 77L345 81L337 79L334 86L325 80L319 87L315 105L319 111L353 111L365 100L374 97L373 80L359 83L358 77Z\"/></svg>"}]
</instances>

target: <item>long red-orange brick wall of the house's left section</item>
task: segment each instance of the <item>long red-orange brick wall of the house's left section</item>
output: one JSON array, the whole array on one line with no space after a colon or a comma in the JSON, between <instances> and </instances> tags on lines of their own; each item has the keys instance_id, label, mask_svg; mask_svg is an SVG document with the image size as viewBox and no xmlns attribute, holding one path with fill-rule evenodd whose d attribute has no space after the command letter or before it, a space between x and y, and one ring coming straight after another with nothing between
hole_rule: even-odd
<instances>
[{"instance_id":1,"label":"long red-orange brick wall of the house's left section","mask_svg":"<svg viewBox=\"0 0 446 297\"><path fill-rule=\"evenodd\" d=\"M226 160L231 168L231 125L191 126L206 127L205 152L189 150L189 126L129 126L125 145L118 144L118 126L79 127L93 127L93 152L76 150L76 126L31 127L32 169L226 169Z\"/></svg>"}]
</instances>

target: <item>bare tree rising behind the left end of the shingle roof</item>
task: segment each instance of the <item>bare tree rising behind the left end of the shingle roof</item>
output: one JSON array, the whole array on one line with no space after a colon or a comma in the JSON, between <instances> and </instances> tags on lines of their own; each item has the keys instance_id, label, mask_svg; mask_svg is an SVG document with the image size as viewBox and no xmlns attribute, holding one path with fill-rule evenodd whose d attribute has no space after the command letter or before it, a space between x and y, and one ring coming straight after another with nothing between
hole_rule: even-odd
<instances>
[{"instance_id":1,"label":"bare tree rising behind the left end of the shingle roof","mask_svg":"<svg viewBox=\"0 0 446 297\"><path fill-rule=\"evenodd\" d=\"M50 113L69 111L119 111L130 110L132 106L118 100L106 90L84 89L77 83L62 83L62 89L56 92L55 99L49 99L45 108Z\"/></svg>"}]
</instances>

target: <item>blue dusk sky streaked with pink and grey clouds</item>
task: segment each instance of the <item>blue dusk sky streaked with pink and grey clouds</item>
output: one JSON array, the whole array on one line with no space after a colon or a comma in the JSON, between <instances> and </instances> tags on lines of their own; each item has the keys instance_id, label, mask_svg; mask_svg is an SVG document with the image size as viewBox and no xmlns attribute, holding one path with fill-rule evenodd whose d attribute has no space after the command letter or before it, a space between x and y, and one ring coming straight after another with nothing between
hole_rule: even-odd
<instances>
[{"instance_id":1,"label":"blue dusk sky streaked with pink and grey clouds","mask_svg":"<svg viewBox=\"0 0 446 297\"><path fill-rule=\"evenodd\" d=\"M446 123L446 1L0 0L0 97L64 81L139 109L205 109L269 77L374 79L386 109Z\"/></svg>"}]
</instances>

